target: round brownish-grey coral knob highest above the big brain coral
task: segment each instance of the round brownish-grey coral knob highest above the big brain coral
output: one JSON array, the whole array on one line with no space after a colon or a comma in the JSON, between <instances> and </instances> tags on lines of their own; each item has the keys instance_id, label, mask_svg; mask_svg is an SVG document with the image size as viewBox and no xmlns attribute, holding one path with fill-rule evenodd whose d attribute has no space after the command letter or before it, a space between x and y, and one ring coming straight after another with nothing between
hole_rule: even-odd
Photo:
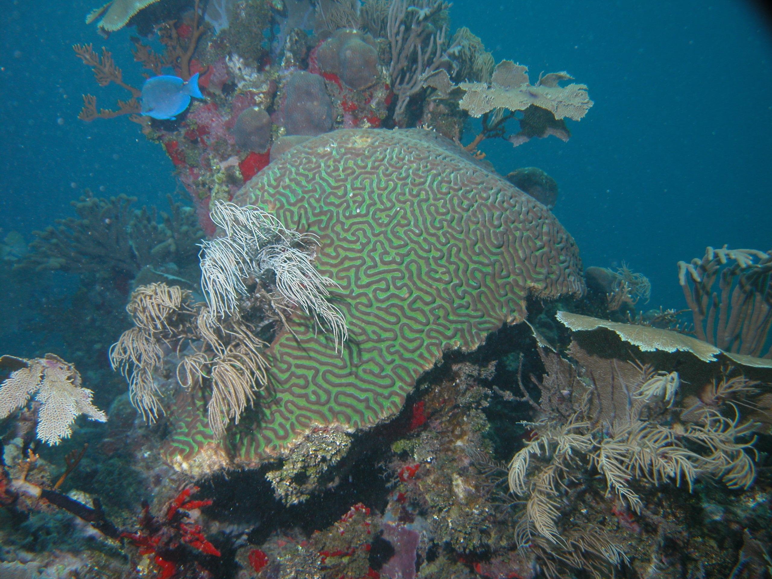
<instances>
[{"instance_id":1,"label":"round brownish-grey coral knob highest above the big brain coral","mask_svg":"<svg viewBox=\"0 0 772 579\"><path fill-rule=\"evenodd\" d=\"M378 76L378 51L369 34L340 29L317 51L319 68L334 73L354 90L366 89Z\"/></svg>"}]
</instances>

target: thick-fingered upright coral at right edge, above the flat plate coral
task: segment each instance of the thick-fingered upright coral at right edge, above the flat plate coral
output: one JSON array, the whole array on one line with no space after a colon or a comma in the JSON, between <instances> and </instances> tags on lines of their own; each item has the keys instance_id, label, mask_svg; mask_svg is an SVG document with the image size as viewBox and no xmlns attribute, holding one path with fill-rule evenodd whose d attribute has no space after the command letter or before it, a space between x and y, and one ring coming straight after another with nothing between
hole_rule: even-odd
<instances>
[{"instance_id":1,"label":"thick-fingered upright coral at right edge, above the flat plate coral","mask_svg":"<svg viewBox=\"0 0 772 579\"><path fill-rule=\"evenodd\" d=\"M772 251L709 247L703 259L678 266L700 340L728 352L772 357Z\"/></svg>"}]
</instances>

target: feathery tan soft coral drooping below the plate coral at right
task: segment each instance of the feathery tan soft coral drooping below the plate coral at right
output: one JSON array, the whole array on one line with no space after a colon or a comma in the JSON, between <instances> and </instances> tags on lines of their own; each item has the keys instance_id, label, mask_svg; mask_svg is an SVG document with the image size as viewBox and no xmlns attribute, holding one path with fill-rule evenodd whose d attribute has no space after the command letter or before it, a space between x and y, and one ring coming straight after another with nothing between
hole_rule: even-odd
<instances>
[{"instance_id":1,"label":"feathery tan soft coral drooping below the plate coral at right","mask_svg":"<svg viewBox=\"0 0 772 579\"><path fill-rule=\"evenodd\" d=\"M510 461L510 491L527 499L523 529L533 528L566 548L560 530L561 496L592 470L603 476L607 495L635 512L644 506L634 489L642 481L660 485L672 480L691 490L699 476L713 476L730 488L751 485L755 423L742 422L739 413L730 419L714 409L687 415L674 408L680 394L675 372L599 357L576 343L570 353L580 364L581 380L574 378L569 362L540 350L549 371L545 381L537 382L547 418L528 425L530 440ZM569 418L564 418L567 408L557 413L550 402L560 376L568 378L562 388L571 396ZM522 538L527 537L530 533L523 532ZM617 547L607 558L618 564L625 555Z\"/></svg>"}]
</instances>

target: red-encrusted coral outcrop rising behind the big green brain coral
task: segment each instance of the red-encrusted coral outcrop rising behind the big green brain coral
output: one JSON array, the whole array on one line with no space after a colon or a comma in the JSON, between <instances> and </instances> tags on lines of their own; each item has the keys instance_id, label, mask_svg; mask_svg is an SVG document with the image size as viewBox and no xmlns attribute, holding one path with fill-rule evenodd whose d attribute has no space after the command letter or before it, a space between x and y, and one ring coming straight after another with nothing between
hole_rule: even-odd
<instances>
[{"instance_id":1,"label":"red-encrusted coral outcrop rising behind the big green brain coral","mask_svg":"<svg viewBox=\"0 0 772 579\"><path fill-rule=\"evenodd\" d=\"M131 39L134 59L154 75L168 73L170 67L183 80L198 73L204 102L192 103L176 120L157 121L137 114L136 98L100 112L95 97L86 95L82 118L130 114L149 140L163 145L196 205L201 228L214 235L208 217L212 201L230 201L239 185L265 168L272 158L271 141L279 137L316 136L339 128L421 126L460 142L468 116L466 107L459 107L465 91L451 79L466 81L470 93L480 92L492 82L493 58L468 29L459 29L448 40L449 7L440 0L153 6L131 22L147 38ZM153 35L164 46L161 52L148 42ZM118 83L137 97L139 91L123 82L109 52L101 60L91 46L76 46L76 52L93 67L100 85ZM506 76L505 64L499 65L497 81ZM537 86L523 86L550 97L567 90L557 86L559 80L564 76L553 74ZM270 130L264 115L258 119L245 112L252 108L271 117ZM482 132L467 150L476 152L486 138L520 143L569 134L562 118L533 106L523 111L520 133L508 136L505 124L514 116L513 110L486 112ZM256 142L245 133L254 133Z\"/></svg>"}]
</instances>

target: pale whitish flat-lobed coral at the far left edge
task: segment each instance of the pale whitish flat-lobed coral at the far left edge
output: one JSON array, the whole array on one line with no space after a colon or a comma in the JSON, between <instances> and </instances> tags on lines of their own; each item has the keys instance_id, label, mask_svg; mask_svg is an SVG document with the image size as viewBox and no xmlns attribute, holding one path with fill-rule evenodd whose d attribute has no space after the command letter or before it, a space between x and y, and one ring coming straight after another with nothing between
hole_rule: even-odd
<instances>
[{"instance_id":1,"label":"pale whitish flat-lobed coral at the far left edge","mask_svg":"<svg viewBox=\"0 0 772 579\"><path fill-rule=\"evenodd\" d=\"M0 386L0 420L24 408L35 396L37 435L42 442L58 445L73 433L73 422L86 415L98 422L107 415L91 403L93 391L82 387L80 373L54 354L26 360L0 357L0 367L12 370Z\"/></svg>"}]
</instances>

